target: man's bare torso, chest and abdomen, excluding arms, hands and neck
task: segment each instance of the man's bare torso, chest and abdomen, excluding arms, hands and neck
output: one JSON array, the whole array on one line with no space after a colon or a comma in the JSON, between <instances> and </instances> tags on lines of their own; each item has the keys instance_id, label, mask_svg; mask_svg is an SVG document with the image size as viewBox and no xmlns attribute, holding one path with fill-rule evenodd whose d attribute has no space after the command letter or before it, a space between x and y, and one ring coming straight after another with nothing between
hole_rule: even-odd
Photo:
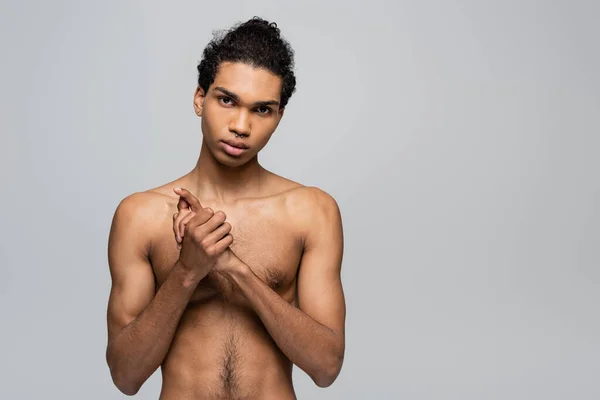
<instances>
[{"instance_id":1,"label":"man's bare torso, chest and abdomen, excluding arms, hands and neck","mask_svg":"<svg viewBox=\"0 0 600 400\"><path fill-rule=\"evenodd\" d=\"M155 213L148 258L156 290L179 257L173 234L178 196L185 177L149 191ZM295 224L301 185L277 178L261 198L219 204L232 225L231 249L282 298L296 305L302 235ZM245 298L222 275L211 272L189 302L162 364L161 399L295 399L292 363L271 339Z\"/></svg>"}]
</instances>

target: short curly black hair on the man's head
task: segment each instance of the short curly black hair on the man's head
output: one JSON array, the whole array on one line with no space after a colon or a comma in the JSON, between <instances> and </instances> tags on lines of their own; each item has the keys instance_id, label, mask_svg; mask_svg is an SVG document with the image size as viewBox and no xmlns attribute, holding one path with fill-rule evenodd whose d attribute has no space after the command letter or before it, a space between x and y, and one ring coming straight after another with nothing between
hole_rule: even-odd
<instances>
[{"instance_id":1,"label":"short curly black hair on the man's head","mask_svg":"<svg viewBox=\"0 0 600 400\"><path fill-rule=\"evenodd\" d=\"M285 107L296 90L294 51L281 37L275 22L254 17L226 32L214 33L198 64L198 86L205 93L214 82L219 65L226 61L265 68L280 76L283 80L280 107Z\"/></svg>"}]
</instances>

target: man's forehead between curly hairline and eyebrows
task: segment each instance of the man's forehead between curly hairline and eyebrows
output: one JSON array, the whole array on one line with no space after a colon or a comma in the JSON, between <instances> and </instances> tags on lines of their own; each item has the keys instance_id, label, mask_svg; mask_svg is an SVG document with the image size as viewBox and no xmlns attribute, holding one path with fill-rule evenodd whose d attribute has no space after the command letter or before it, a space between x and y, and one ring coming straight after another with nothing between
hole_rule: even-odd
<instances>
[{"instance_id":1,"label":"man's forehead between curly hairline and eyebrows","mask_svg":"<svg viewBox=\"0 0 600 400\"><path fill-rule=\"evenodd\" d=\"M283 80L264 68L244 63L225 62L219 65L213 88L222 87L235 93L244 102L277 100Z\"/></svg>"}]
</instances>

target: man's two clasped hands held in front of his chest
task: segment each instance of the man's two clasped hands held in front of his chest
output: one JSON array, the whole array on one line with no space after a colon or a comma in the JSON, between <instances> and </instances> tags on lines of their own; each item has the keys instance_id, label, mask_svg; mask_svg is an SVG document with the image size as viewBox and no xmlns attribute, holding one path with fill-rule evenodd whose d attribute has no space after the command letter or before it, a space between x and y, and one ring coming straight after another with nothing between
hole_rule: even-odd
<instances>
[{"instance_id":1,"label":"man's two clasped hands held in front of his chest","mask_svg":"<svg viewBox=\"0 0 600 400\"><path fill-rule=\"evenodd\" d=\"M231 225L225 222L224 212L213 213L203 208L186 189L176 188L174 191L181 196L173 222L175 239L181 249L179 262L190 272L204 278L233 243ZM229 259L229 254L225 258Z\"/></svg>"}]
</instances>

